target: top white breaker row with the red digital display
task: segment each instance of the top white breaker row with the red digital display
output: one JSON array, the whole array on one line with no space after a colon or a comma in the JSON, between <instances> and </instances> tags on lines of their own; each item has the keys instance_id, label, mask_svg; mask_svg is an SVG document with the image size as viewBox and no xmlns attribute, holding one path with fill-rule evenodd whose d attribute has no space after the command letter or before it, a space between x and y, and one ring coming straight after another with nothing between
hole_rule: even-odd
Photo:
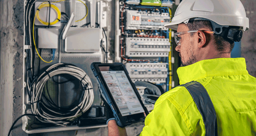
<instances>
[{"instance_id":1,"label":"top white breaker row with the red digital display","mask_svg":"<svg viewBox=\"0 0 256 136\"><path fill-rule=\"evenodd\" d=\"M169 13L127 10L126 11L127 30L168 30L164 24L170 22Z\"/></svg>"}]
</instances>

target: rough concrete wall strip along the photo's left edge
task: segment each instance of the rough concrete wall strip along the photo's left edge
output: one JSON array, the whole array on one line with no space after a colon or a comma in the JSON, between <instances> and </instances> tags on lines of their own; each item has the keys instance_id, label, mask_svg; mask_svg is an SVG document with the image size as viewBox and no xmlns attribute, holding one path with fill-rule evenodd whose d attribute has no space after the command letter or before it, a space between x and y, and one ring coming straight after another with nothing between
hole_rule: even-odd
<instances>
[{"instance_id":1,"label":"rough concrete wall strip along the photo's left edge","mask_svg":"<svg viewBox=\"0 0 256 136\"><path fill-rule=\"evenodd\" d=\"M23 1L0 0L0 20L0 135L6 136L22 115Z\"/></svg>"}]
</instances>

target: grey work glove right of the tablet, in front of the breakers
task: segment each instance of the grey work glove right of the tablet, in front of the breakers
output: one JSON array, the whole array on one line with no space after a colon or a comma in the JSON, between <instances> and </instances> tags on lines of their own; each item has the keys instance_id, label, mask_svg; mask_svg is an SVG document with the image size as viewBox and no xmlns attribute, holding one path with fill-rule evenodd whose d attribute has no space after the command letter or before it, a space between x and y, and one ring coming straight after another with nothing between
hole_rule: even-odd
<instances>
[{"instance_id":1,"label":"grey work glove right of the tablet, in front of the breakers","mask_svg":"<svg viewBox=\"0 0 256 136\"><path fill-rule=\"evenodd\" d=\"M159 96L164 93L164 89L161 85L156 85L156 84L145 82L145 81L136 81L134 84L137 86L147 87L145 88L144 94L142 96L145 98L145 101L148 103L155 104Z\"/></svg>"}]
</instances>

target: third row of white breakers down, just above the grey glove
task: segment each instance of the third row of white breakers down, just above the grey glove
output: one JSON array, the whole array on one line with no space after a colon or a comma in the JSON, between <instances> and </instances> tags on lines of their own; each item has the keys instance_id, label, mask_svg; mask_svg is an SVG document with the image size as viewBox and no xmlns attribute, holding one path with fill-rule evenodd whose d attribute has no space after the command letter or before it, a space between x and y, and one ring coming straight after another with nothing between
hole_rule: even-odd
<instances>
[{"instance_id":1,"label":"third row of white breakers down, just above the grey glove","mask_svg":"<svg viewBox=\"0 0 256 136\"><path fill-rule=\"evenodd\" d=\"M126 69L132 82L148 81L165 83L168 63L126 63Z\"/></svg>"}]
</instances>

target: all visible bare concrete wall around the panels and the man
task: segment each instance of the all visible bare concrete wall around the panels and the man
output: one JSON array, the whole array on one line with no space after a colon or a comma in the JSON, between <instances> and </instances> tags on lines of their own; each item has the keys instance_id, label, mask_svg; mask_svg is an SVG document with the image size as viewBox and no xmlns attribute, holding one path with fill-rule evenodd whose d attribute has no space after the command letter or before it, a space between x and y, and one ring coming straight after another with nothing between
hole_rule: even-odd
<instances>
[{"instance_id":1,"label":"all visible bare concrete wall around the panels and the man","mask_svg":"<svg viewBox=\"0 0 256 136\"><path fill-rule=\"evenodd\" d=\"M256 77L256 1L241 2L250 19L249 33L244 32L241 42L241 57L246 59L249 74ZM0 136L6 136L12 122L22 114L23 7L23 0L0 0ZM110 39L113 39L113 35ZM143 126L143 123L138 123L126 127L128 135L138 134ZM107 133L108 129L104 127L34 135L106 136ZM22 135L27 136L19 121L13 136Z\"/></svg>"}]
</instances>

